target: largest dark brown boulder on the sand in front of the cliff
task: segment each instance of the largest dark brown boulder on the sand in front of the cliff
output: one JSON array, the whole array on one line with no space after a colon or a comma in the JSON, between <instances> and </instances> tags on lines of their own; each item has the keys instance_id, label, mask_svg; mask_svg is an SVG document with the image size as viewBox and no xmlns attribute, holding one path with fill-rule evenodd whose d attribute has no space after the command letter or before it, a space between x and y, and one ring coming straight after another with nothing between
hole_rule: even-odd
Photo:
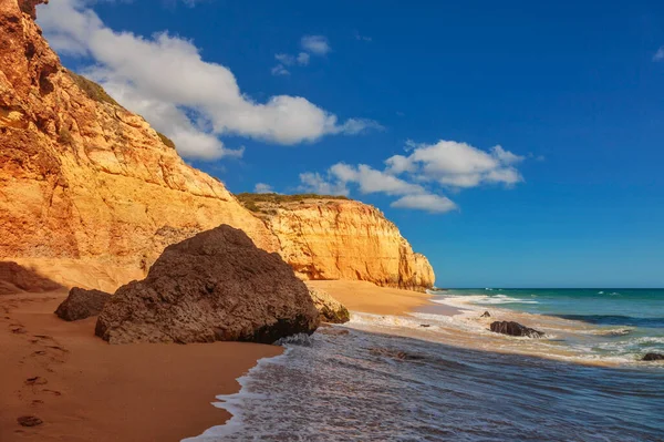
<instances>
[{"instance_id":1,"label":"largest dark brown boulder on the sand in front of the cliff","mask_svg":"<svg viewBox=\"0 0 664 442\"><path fill-rule=\"evenodd\" d=\"M318 325L288 264L222 225L166 247L144 280L115 292L95 333L111 343L272 343Z\"/></svg>"}]
</instances>

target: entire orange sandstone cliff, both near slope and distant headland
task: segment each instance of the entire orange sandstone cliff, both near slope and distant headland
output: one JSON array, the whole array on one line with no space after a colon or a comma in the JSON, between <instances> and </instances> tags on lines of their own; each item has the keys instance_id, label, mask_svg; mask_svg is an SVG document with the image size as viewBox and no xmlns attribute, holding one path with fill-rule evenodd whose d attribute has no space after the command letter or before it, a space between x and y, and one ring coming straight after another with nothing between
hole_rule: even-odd
<instances>
[{"instance_id":1,"label":"entire orange sandstone cliff, both near slope and distant headland","mask_svg":"<svg viewBox=\"0 0 664 442\"><path fill-rule=\"evenodd\" d=\"M255 216L145 120L64 69L34 22L41 2L0 0L0 260L113 291L143 278L167 245L228 224L302 279L433 285L426 258L371 206L309 202Z\"/></svg>"}]
</instances>

